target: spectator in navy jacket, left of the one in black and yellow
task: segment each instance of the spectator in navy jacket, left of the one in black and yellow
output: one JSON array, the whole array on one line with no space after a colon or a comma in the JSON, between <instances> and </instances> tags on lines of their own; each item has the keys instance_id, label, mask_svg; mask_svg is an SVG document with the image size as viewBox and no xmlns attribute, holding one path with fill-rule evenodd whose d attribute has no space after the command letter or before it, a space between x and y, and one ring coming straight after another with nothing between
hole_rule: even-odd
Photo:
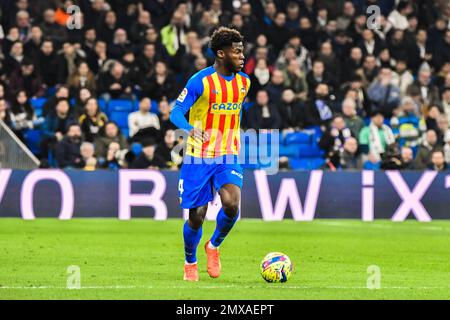
<instances>
[{"instance_id":1,"label":"spectator in navy jacket, left of the one in black and yellow","mask_svg":"<svg viewBox=\"0 0 450 320\"><path fill-rule=\"evenodd\" d=\"M67 133L69 126L78 124L78 121L70 113L69 102L64 98L56 101L55 113L48 114L42 125L41 155L47 158L56 142L61 141Z\"/></svg>"}]
</instances>

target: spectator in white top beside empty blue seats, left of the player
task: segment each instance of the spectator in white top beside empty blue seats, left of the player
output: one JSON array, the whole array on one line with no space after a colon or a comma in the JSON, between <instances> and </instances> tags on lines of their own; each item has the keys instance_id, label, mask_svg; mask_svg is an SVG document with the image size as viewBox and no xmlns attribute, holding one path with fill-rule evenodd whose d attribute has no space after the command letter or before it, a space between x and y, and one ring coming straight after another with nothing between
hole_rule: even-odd
<instances>
[{"instance_id":1,"label":"spectator in white top beside empty blue seats, left of the player","mask_svg":"<svg viewBox=\"0 0 450 320\"><path fill-rule=\"evenodd\" d=\"M133 141L141 141L148 136L158 138L161 126L158 116L150 112L151 105L149 98L143 98L139 102L139 110L129 114L128 128Z\"/></svg>"}]
</instances>

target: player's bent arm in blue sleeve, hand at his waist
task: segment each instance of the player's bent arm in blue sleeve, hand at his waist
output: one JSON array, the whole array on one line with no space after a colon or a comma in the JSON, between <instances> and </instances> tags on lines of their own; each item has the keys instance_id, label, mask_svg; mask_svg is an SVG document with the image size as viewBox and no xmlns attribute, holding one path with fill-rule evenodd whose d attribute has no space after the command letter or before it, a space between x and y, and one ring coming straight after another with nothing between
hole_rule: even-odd
<instances>
[{"instance_id":1,"label":"player's bent arm in blue sleeve, hand at his waist","mask_svg":"<svg viewBox=\"0 0 450 320\"><path fill-rule=\"evenodd\" d=\"M170 113L170 121L178 128L183 129L194 138L206 141L209 139L206 132L201 128L194 128L186 119L185 114L203 93L203 83L199 77L191 78L186 87L178 96L175 107Z\"/></svg>"}]
</instances>

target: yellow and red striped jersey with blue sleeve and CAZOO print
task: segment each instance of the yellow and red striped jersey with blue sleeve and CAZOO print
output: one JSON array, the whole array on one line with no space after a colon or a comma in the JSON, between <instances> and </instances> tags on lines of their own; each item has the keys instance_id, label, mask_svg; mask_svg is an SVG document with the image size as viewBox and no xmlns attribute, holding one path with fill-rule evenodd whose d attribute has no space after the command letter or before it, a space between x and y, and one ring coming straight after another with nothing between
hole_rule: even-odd
<instances>
[{"instance_id":1,"label":"yellow and red striped jersey with blue sleeve and CAZOO print","mask_svg":"<svg viewBox=\"0 0 450 320\"><path fill-rule=\"evenodd\" d=\"M209 141L187 140L186 154L201 158L239 155L241 110L250 88L243 72L223 76L214 66L193 75L181 92L176 108L189 110L189 124L208 132Z\"/></svg>"}]
</instances>

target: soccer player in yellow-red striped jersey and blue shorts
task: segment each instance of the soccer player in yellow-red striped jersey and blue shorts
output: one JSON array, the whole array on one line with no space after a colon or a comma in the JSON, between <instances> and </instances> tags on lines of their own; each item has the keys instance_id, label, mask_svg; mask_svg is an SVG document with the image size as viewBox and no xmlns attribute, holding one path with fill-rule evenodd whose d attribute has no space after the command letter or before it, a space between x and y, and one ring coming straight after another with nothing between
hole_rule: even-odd
<instances>
[{"instance_id":1,"label":"soccer player in yellow-red striped jersey and blue shorts","mask_svg":"<svg viewBox=\"0 0 450 320\"><path fill-rule=\"evenodd\" d=\"M214 190L222 208L216 229L205 244L208 274L220 276L219 246L239 216L243 180L238 162L240 115L250 79L244 66L243 37L234 29L214 31L210 48L214 65L194 74L180 93L171 121L189 133L180 172L178 193L182 208L189 209L184 224L184 280L198 281L197 246L202 224ZM189 111L189 121L185 114Z\"/></svg>"}]
</instances>

